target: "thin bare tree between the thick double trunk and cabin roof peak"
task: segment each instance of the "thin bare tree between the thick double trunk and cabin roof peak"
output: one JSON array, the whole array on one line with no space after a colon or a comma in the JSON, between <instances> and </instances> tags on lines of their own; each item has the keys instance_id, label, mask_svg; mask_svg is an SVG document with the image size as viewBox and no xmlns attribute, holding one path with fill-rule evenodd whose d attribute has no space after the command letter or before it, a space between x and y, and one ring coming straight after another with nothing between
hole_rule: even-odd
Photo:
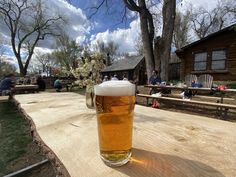
<instances>
[{"instance_id":1,"label":"thin bare tree between the thick double trunk and cabin roof peak","mask_svg":"<svg viewBox=\"0 0 236 177\"><path fill-rule=\"evenodd\" d=\"M173 33L173 43L176 49L180 49L189 43L190 15L190 11L185 14L176 13Z\"/></svg>"}]
</instances>

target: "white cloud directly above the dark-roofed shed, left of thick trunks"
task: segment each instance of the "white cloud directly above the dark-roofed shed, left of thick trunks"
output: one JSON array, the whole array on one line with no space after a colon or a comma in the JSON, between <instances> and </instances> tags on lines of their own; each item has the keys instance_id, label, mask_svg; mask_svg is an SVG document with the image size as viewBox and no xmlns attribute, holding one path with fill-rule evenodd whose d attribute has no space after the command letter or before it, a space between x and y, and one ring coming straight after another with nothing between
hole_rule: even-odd
<instances>
[{"instance_id":1,"label":"white cloud directly above the dark-roofed shed, left of thick trunks","mask_svg":"<svg viewBox=\"0 0 236 177\"><path fill-rule=\"evenodd\" d=\"M92 35L90 38L92 48L97 44L98 41L108 43L113 41L118 44L118 51L121 53L136 53L135 44L136 40L140 35L139 20L135 20L130 23L127 29L117 29L114 31L105 31Z\"/></svg>"}]
</instances>

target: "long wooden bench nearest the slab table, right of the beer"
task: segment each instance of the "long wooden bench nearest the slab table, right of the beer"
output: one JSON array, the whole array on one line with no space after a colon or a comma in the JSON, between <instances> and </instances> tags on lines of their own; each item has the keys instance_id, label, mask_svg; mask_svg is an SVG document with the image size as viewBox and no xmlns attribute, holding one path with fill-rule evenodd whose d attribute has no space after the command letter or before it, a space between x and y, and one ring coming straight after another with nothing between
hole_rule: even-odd
<instances>
[{"instance_id":1,"label":"long wooden bench nearest the slab table, right of the beer","mask_svg":"<svg viewBox=\"0 0 236 177\"><path fill-rule=\"evenodd\" d=\"M147 94L137 94L137 96L146 98L147 105L148 105L148 99L152 98L152 99L157 99L157 100L165 100L165 101L186 103L186 104L192 104L192 105L212 106L212 107L216 107L217 112L219 111L220 115L223 117L227 116L227 111L229 109L236 109L236 105L232 105L232 104L213 103L213 102L196 101L196 100L184 100L184 99L180 99L180 98L172 98L172 97L165 97L165 96L155 97L155 96L147 95ZM224 114L222 114L222 112Z\"/></svg>"}]
</instances>

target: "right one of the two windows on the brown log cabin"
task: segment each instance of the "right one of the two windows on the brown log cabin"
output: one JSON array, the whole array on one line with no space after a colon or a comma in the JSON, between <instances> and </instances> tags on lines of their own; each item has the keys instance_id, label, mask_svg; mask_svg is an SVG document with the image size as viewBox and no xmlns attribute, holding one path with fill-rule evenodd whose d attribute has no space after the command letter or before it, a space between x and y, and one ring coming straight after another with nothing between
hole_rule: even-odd
<instances>
[{"instance_id":1,"label":"right one of the two windows on the brown log cabin","mask_svg":"<svg viewBox=\"0 0 236 177\"><path fill-rule=\"evenodd\" d=\"M226 61L225 50L212 51L212 61L211 61L212 70L225 69L225 61Z\"/></svg>"}]
</instances>

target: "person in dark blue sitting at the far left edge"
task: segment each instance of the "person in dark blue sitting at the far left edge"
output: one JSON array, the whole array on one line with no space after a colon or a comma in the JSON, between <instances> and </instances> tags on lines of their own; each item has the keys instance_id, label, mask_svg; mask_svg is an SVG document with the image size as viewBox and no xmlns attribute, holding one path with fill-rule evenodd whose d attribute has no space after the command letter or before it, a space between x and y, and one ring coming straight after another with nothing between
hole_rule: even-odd
<instances>
[{"instance_id":1,"label":"person in dark blue sitting at the far left edge","mask_svg":"<svg viewBox=\"0 0 236 177\"><path fill-rule=\"evenodd\" d=\"M11 89L14 88L14 75L8 74L4 77L4 79L0 82L0 93L1 95L11 95Z\"/></svg>"}]
</instances>

